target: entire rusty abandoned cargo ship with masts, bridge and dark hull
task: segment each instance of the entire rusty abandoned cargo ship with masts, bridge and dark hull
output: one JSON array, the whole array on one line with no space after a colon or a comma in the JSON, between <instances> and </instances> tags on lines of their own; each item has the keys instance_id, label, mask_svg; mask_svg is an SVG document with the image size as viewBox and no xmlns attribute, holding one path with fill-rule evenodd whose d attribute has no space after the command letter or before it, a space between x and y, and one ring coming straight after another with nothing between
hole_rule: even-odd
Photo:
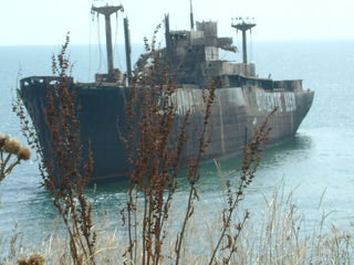
<instances>
[{"instance_id":1,"label":"entire rusty abandoned cargo ship with masts, bridge and dark hull","mask_svg":"<svg viewBox=\"0 0 354 265\"><path fill-rule=\"evenodd\" d=\"M127 153L117 137L117 126L124 128L125 98L132 77L128 21L124 19L127 73L114 68L110 15L123 7L93 7L93 11L105 17L107 74L96 74L94 83L72 84L76 89L76 102L82 110L81 140L84 150L90 145L94 156L94 181L122 179L128 174ZM221 158L242 150L253 128L259 126L275 107L269 126L272 127L270 142L274 144L294 136L306 116L314 93L302 88L301 80L273 81L259 78L256 66L248 62L247 32L256 24L236 20L232 26L242 32L241 63L219 59L220 49L235 51L231 38L218 38L217 22L194 22L190 30L169 30L169 18L165 18L167 56L175 73L178 89L177 114L184 116L192 109L195 119L201 117L201 88L210 78L218 78L217 99L214 104L211 142L206 158ZM48 155L50 137L45 124L45 89L51 89L55 76L31 76L21 80L20 96L30 115L44 156ZM117 117L119 117L117 121ZM191 142L192 145L192 142Z\"/></svg>"}]
</instances>

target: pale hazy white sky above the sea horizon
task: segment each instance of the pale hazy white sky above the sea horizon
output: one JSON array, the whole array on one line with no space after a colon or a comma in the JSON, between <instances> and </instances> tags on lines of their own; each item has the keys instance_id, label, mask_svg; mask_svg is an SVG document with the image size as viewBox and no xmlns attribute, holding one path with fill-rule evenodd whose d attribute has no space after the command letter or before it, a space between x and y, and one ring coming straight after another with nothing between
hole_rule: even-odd
<instances>
[{"instance_id":1,"label":"pale hazy white sky above the sea horizon","mask_svg":"<svg viewBox=\"0 0 354 265\"><path fill-rule=\"evenodd\" d=\"M66 31L71 31L72 44L97 43L97 20L92 21L91 6L106 2L125 8L124 14L118 14L118 43L123 43L123 15L131 21L135 43L150 36L165 13L170 14L171 30L189 28L189 0L1 0L0 45L60 44ZM354 0L192 2L195 19L218 21L221 36L236 35L231 18L254 17L253 40L354 39ZM102 36L103 24L101 18Z\"/></svg>"}]
</instances>

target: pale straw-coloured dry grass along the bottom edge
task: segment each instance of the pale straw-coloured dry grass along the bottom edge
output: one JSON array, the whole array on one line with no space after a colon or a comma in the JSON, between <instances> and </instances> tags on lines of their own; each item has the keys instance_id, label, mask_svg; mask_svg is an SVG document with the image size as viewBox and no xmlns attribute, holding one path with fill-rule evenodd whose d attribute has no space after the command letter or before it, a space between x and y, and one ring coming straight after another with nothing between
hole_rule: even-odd
<instances>
[{"instance_id":1,"label":"pale straw-coloured dry grass along the bottom edge","mask_svg":"<svg viewBox=\"0 0 354 265\"><path fill-rule=\"evenodd\" d=\"M274 265L274 264L353 264L353 232L351 230L340 230L325 223L323 215L316 222L315 227L305 225L305 214L293 203L293 194L288 197L282 194L281 188L275 188L272 194L266 197L260 202L262 212L254 213L246 223L240 237L238 239L237 250L229 264L240 265ZM207 195L206 195L207 197ZM181 264L206 264L215 247L216 241L220 235L220 223L222 223L221 212L210 214L210 201L204 200L196 209L196 214L191 216L186 229L186 240L181 250ZM222 205L220 195L216 205ZM261 204L263 203L263 204ZM162 251L159 264L174 264L175 254L175 232L178 230L174 220L179 218L177 205L171 206L171 218L167 225L165 245ZM241 208L242 209L242 208ZM140 211L142 209L138 209ZM239 211L241 213L242 210ZM217 214L218 213L218 214ZM215 216L214 219L210 218ZM242 215L239 216L242 219ZM237 223L239 220L233 220ZM127 235L122 231L106 230L106 222L96 227L97 242L95 251L96 264L133 264L123 257L126 252ZM142 224L138 232L142 231ZM230 227L232 230L235 227ZM18 237L13 237L11 247L8 247L8 257L1 264L15 264L19 258L37 257L45 258L45 264L72 264L69 240L62 235L49 235L38 246L23 246ZM6 242L2 242L6 244ZM2 247L4 248L4 247ZM221 252L216 256L215 264L223 264L222 245ZM137 250L138 252L142 250ZM23 261L23 259L22 259ZM140 264L140 256L135 264ZM31 263L22 263L31 264ZM35 263L33 263L35 264ZM38 263L41 264L41 263Z\"/></svg>"}]
</instances>

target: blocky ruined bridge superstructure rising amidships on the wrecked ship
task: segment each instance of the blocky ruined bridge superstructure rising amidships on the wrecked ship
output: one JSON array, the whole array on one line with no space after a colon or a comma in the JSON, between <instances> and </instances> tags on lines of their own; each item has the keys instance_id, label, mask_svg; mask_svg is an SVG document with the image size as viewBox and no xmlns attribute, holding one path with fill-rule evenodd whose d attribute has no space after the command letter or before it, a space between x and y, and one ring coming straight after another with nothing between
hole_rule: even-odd
<instances>
[{"instance_id":1,"label":"blocky ruined bridge superstructure rising amidships on the wrecked ship","mask_svg":"<svg viewBox=\"0 0 354 265\"><path fill-rule=\"evenodd\" d=\"M166 17L166 23L168 17ZM167 24L166 29L169 29ZM168 31L166 56L169 57L177 83L206 86L210 77L221 75L256 76L254 64L230 63L219 59L219 49L237 52L232 38L219 38L215 21L196 23L196 30Z\"/></svg>"}]
</instances>

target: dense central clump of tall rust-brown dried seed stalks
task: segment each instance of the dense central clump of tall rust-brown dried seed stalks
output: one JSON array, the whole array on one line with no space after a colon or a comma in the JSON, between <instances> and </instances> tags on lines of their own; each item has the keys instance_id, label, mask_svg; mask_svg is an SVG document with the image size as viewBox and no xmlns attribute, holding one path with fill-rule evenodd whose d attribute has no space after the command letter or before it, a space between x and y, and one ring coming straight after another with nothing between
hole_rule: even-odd
<instances>
[{"instance_id":1,"label":"dense central clump of tall rust-brown dried seed stalks","mask_svg":"<svg viewBox=\"0 0 354 265\"><path fill-rule=\"evenodd\" d=\"M155 31L154 34L156 34ZM174 96L178 89L168 71L168 64L160 62L159 51L155 50L156 36L149 45L145 41L146 54L139 60L139 67L135 71L129 87L126 104L127 136L124 138L132 165L131 183L128 192L127 230L128 248L126 254L136 261L137 243L142 242L142 264L158 265L163 262L163 245L165 240L165 224L169 218L170 204L177 187L177 174L183 161L187 161L185 146L188 135L190 109L184 116L177 114ZM191 215L192 201L197 197L195 188L198 179L198 168L207 146L207 124L215 99L216 84L205 95L206 113L204 127L199 135L199 147L194 150L188 161L187 179L190 184L190 197L185 223L183 224L177 252L180 253L183 237L188 219ZM194 131L195 132L195 131ZM136 205L138 200L133 191L142 192L142 239L137 239L138 221ZM137 197L136 197L137 199ZM135 227L134 227L135 226ZM135 252L135 253L133 253ZM179 257L178 257L179 258ZM178 262L177 262L178 263Z\"/></svg>"}]
</instances>

